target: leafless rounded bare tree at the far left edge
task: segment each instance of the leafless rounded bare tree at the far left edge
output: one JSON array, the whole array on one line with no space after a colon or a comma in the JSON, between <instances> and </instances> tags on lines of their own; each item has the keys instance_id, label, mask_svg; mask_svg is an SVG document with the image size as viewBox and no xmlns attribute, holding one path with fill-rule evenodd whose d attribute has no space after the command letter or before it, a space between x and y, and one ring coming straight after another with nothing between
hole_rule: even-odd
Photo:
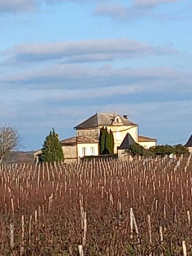
<instances>
[{"instance_id":1,"label":"leafless rounded bare tree at the far left edge","mask_svg":"<svg viewBox=\"0 0 192 256\"><path fill-rule=\"evenodd\" d=\"M0 127L0 164L3 162L5 154L20 146L21 140L19 132L14 127L6 125Z\"/></svg>"}]
</instances>

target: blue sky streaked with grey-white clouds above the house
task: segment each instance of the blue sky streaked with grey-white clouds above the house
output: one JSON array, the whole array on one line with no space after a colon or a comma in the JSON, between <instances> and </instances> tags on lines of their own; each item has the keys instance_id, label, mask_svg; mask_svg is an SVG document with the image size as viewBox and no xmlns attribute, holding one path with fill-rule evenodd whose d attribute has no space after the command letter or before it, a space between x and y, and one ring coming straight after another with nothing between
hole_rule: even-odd
<instances>
[{"instance_id":1,"label":"blue sky streaked with grey-white clouds above the house","mask_svg":"<svg viewBox=\"0 0 192 256\"><path fill-rule=\"evenodd\" d=\"M1 0L0 126L42 147L100 112L158 144L192 132L190 0Z\"/></svg>"}]
</instances>

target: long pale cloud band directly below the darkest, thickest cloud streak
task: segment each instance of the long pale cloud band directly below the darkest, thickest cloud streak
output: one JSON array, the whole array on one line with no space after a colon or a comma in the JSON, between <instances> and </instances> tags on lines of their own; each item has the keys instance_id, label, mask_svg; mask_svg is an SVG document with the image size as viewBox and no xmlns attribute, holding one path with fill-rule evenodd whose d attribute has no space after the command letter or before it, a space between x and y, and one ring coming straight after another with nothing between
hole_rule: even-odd
<instances>
[{"instance_id":1,"label":"long pale cloud band directly below the darkest, thickest cloud streak","mask_svg":"<svg viewBox=\"0 0 192 256\"><path fill-rule=\"evenodd\" d=\"M177 79L185 76L182 72L169 67L162 68L112 68L109 65L100 68L82 67L72 64L55 65L49 68L23 73L1 76L2 82L35 83L44 80L49 83L50 79L86 79L99 77L133 77L133 78L158 78L158 79Z\"/></svg>"}]
</instances>

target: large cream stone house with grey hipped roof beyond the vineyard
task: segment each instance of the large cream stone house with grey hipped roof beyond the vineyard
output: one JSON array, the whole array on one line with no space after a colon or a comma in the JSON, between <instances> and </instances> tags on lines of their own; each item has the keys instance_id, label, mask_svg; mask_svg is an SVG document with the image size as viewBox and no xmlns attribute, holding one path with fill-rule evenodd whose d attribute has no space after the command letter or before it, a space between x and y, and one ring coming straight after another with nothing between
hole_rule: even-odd
<instances>
[{"instance_id":1,"label":"large cream stone house with grey hipped roof beyond the vineyard","mask_svg":"<svg viewBox=\"0 0 192 256\"><path fill-rule=\"evenodd\" d=\"M84 156L99 155L99 136L100 129L105 127L113 132L114 153L121 145L127 133L134 142L139 143L145 148L156 146L156 139L138 135L138 124L133 123L127 115L120 116L117 113L96 113L87 120L78 124L74 129L76 136L65 140L60 140L62 145L65 162L78 160ZM34 153L36 161L39 161L41 150Z\"/></svg>"}]
</instances>

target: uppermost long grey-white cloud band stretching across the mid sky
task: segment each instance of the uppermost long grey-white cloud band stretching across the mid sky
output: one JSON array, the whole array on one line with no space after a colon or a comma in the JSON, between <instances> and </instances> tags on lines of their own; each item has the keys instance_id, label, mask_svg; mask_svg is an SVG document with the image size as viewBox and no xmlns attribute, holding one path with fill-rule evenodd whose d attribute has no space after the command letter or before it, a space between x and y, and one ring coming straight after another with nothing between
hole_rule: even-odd
<instances>
[{"instance_id":1,"label":"uppermost long grey-white cloud band stretching across the mid sky","mask_svg":"<svg viewBox=\"0 0 192 256\"><path fill-rule=\"evenodd\" d=\"M46 44L19 44L2 54L13 54L11 61L62 59L65 63L129 59L147 55L174 54L172 46L154 46L131 39L100 39ZM10 62L10 60L7 60Z\"/></svg>"}]
</instances>

